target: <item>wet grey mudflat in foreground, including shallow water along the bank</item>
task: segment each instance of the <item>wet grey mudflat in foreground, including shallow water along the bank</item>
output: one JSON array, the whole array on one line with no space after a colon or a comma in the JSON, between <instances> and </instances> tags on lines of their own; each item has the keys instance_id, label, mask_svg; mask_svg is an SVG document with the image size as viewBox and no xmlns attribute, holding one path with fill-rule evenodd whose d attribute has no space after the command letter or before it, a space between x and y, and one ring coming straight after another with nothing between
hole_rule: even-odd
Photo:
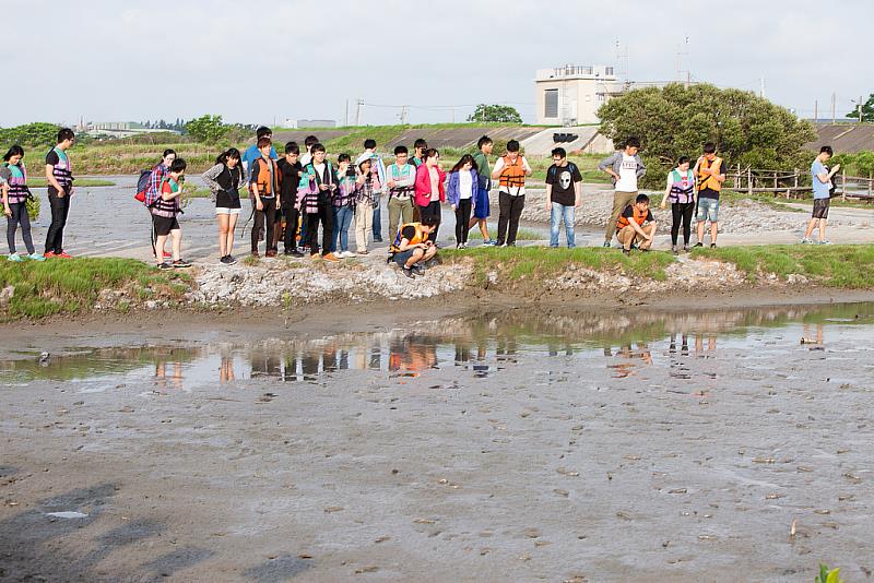
<instances>
[{"instance_id":1,"label":"wet grey mudflat in foreground, including shallow water along the bank","mask_svg":"<svg viewBox=\"0 0 874 583\"><path fill-rule=\"evenodd\" d=\"M0 580L870 576L874 305L539 309L5 336Z\"/></svg>"}]
</instances>

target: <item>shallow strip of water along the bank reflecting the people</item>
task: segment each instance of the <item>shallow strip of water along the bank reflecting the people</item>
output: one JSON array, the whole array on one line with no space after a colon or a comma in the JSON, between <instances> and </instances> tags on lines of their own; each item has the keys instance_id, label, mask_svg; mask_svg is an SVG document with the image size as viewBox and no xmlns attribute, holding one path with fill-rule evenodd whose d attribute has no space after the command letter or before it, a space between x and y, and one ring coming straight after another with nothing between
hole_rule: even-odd
<instances>
[{"instance_id":1,"label":"shallow strip of water along the bank reflecting the people","mask_svg":"<svg viewBox=\"0 0 874 583\"><path fill-rule=\"evenodd\" d=\"M107 376L151 381L158 393L194 383L234 383L267 377L283 382L324 382L346 370L387 378L427 374L456 367L486 378L534 356L546 359L550 380L564 379L563 359L604 358L611 377L626 379L649 367L666 367L677 381L716 378L705 364L721 349L801 344L825 350L826 329L874 328L874 305L725 310L704 313L641 312L634 317L581 313L543 316L515 310L474 319L417 322L403 331L340 334L311 342L268 340L248 345L194 348L76 349L63 356L0 361L0 381L33 379L83 382ZM810 345L810 346L807 346ZM782 348L786 349L786 348ZM775 357L773 354L770 355ZM693 366L693 360L701 362ZM678 390L682 390L680 388Z\"/></svg>"}]
</instances>

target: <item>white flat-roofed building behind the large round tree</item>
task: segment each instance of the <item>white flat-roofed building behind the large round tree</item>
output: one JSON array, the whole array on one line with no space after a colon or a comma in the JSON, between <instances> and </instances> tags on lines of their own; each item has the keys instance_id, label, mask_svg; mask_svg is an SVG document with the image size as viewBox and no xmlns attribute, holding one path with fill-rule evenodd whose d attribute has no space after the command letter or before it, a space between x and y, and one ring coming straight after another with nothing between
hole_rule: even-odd
<instances>
[{"instance_id":1,"label":"white flat-roofed building behind the large round tree","mask_svg":"<svg viewBox=\"0 0 874 583\"><path fill-rule=\"evenodd\" d=\"M626 86L613 67L603 64L541 69L534 85L540 126L598 123L598 108Z\"/></svg>"}]
</instances>

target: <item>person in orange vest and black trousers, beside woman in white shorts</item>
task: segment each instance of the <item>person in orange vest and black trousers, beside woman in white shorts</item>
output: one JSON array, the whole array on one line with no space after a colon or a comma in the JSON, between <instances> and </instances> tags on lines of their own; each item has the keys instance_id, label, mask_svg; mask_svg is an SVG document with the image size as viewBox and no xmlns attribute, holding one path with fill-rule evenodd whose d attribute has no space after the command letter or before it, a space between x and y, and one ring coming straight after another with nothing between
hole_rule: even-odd
<instances>
[{"instance_id":1,"label":"person in orange vest and black trousers, beside woman in white shorts","mask_svg":"<svg viewBox=\"0 0 874 583\"><path fill-rule=\"evenodd\" d=\"M279 195L282 175L276 166L276 160L270 157L273 152L270 138L259 139L257 145L261 157L252 160L249 176L252 205L255 206L255 224L252 224L251 233L252 257L259 257L258 241L264 224L267 224L264 257L276 257L277 249L273 247L273 229L275 228L276 209L280 209L282 203L281 195Z\"/></svg>"}]
</instances>

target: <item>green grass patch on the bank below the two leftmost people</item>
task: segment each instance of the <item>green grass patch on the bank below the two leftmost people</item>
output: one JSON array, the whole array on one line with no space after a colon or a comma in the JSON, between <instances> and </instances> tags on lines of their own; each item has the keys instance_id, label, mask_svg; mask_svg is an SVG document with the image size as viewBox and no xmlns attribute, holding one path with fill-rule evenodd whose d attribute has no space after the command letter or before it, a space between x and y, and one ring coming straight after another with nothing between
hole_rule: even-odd
<instances>
[{"instance_id":1,"label":"green grass patch on the bank below the two leftmost people","mask_svg":"<svg viewBox=\"0 0 874 583\"><path fill-rule=\"evenodd\" d=\"M103 289L123 290L128 297L178 299L191 278L178 272L156 272L131 259L54 259L11 263L0 260L0 287L15 294L2 316L40 319L56 313L90 310ZM151 288L145 290L144 288Z\"/></svg>"}]
</instances>

